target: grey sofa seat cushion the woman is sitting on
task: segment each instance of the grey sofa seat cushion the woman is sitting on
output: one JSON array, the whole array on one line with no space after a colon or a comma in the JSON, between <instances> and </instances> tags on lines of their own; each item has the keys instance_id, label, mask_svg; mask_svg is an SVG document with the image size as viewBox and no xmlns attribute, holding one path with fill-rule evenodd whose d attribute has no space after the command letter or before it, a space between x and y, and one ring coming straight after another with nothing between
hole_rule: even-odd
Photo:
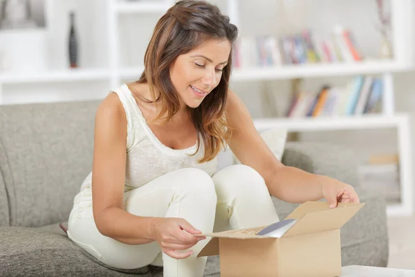
<instances>
[{"instance_id":1,"label":"grey sofa seat cushion the woman is sitting on","mask_svg":"<svg viewBox=\"0 0 415 277\"><path fill-rule=\"evenodd\" d=\"M120 270L103 265L71 242L59 224L0 228L0 265L0 276L163 276L160 267ZM209 257L204 276L218 274L218 256Z\"/></svg>"}]
</instances>

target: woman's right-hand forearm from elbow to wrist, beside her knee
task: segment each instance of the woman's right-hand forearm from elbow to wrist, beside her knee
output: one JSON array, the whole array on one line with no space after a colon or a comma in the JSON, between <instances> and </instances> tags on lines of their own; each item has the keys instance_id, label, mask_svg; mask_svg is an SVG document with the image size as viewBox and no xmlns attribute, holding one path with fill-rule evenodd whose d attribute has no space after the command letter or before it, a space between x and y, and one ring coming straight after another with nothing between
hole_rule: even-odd
<instances>
[{"instance_id":1,"label":"woman's right-hand forearm from elbow to wrist, beside her knee","mask_svg":"<svg viewBox=\"0 0 415 277\"><path fill-rule=\"evenodd\" d=\"M303 203L324 198L322 182L325 177L308 173L291 166L282 166L275 170L267 181L271 195L290 203Z\"/></svg>"}]
</instances>

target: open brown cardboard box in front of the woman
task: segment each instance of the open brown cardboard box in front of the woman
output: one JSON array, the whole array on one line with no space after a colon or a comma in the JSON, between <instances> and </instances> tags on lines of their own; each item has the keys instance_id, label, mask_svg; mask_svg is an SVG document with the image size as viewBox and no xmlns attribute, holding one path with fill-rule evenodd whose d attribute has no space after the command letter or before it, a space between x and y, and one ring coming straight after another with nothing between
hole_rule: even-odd
<instances>
[{"instance_id":1,"label":"open brown cardboard box in front of the woman","mask_svg":"<svg viewBox=\"0 0 415 277\"><path fill-rule=\"evenodd\" d=\"M280 238L258 235L268 226L201 234L212 238L198 257L219 255L221 277L340 276L340 227L363 205L305 202L286 217L293 224Z\"/></svg>"}]
</instances>

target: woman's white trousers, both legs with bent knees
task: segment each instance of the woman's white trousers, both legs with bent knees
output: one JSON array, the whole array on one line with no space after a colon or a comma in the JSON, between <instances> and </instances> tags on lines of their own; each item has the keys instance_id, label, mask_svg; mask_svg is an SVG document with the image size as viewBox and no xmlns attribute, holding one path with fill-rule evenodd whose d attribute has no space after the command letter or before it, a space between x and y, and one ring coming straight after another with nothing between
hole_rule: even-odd
<instances>
[{"instance_id":1,"label":"woman's white trousers, both legs with bent knees","mask_svg":"<svg viewBox=\"0 0 415 277\"><path fill-rule=\"evenodd\" d=\"M235 165L213 177L196 168L162 175L130 190L126 211L149 217L181 217L203 233L264 226L279 221L264 179L254 169ZM102 235L93 217L71 216L68 236L107 265L135 269L163 265L165 277L203 276L206 257L197 258L210 238L191 249L189 258L175 259L162 253L157 242L131 245Z\"/></svg>"}]
</instances>

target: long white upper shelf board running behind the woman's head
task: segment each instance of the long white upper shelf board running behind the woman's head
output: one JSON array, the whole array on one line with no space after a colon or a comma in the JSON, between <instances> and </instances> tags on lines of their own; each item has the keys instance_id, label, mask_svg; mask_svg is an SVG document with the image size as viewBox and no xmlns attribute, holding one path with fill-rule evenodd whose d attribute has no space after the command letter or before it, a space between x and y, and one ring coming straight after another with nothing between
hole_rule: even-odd
<instances>
[{"instance_id":1,"label":"long white upper shelf board running behind the woman's head","mask_svg":"<svg viewBox=\"0 0 415 277\"><path fill-rule=\"evenodd\" d=\"M356 64L299 64L266 68L234 69L232 82L282 80L291 78L317 78L339 75L382 74L405 71L408 66L394 61L356 62ZM120 78L138 78L143 66L120 69ZM68 82L82 80L105 80L111 75L110 69L58 69L39 72L3 73L2 84L31 82Z\"/></svg>"}]
</instances>

